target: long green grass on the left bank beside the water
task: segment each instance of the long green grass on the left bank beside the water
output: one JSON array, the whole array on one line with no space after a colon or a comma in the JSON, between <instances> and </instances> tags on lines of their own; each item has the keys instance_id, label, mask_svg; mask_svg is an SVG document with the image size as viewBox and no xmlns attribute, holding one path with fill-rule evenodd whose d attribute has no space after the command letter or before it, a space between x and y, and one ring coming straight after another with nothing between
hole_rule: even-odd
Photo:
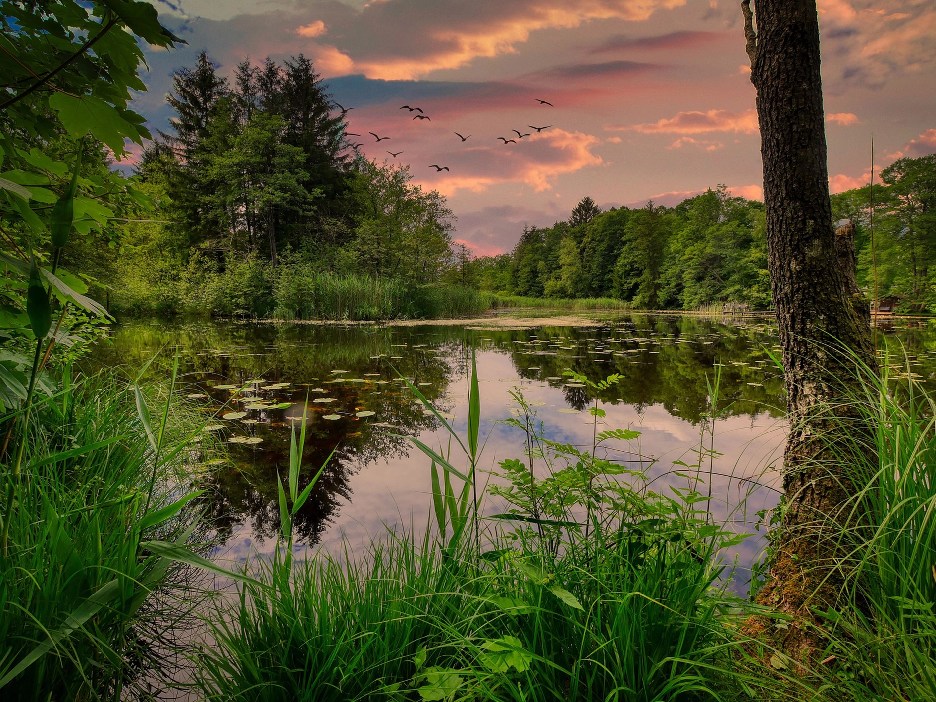
<instances>
[{"instance_id":1,"label":"long green grass on the left bank beside the water","mask_svg":"<svg viewBox=\"0 0 936 702\"><path fill-rule=\"evenodd\" d=\"M66 377L33 408L19 475L14 431L0 464L14 496L0 558L4 699L140 698L162 680L176 628L192 624L163 590L183 571L145 543L184 542L196 528L171 505L191 481L196 425L173 411L151 434L139 408L159 393L135 394L110 375Z\"/></svg>"}]
</instances>

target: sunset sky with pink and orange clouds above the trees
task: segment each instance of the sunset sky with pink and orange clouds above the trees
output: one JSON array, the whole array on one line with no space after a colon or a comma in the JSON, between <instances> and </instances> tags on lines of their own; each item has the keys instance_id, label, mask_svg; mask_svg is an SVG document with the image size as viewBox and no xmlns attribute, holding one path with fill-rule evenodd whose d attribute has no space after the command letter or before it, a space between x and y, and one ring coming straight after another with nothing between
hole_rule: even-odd
<instances>
[{"instance_id":1,"label":"sunset sky with pink and orange clouds above the trees","mask_svg":"<svg viewBox=\"0 0 936 702\"><path fill-rule=\"evenodd\" d=\"M303 53L354 108L361 153L446 195L454 238L478 256L509 251L524 226L550 227L585 196L602 209L674 205L724 183L761 197L737 0L151 2L188 42L144 47L135 107L151 129L168 127L172 72L198 51L225 76L245 58ZM831 191L868 183L872 133L875 172L936 152L936 3L818 7Z\"/></svg>"}]
</instances>

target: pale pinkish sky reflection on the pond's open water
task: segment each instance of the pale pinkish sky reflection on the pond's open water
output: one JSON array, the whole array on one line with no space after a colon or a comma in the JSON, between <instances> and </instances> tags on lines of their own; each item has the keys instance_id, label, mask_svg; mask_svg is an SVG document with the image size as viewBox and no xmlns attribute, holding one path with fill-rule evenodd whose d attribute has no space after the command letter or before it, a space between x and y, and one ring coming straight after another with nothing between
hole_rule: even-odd
<instances>
[{"instance_id":1,"label":"pale pinkish sky reflection on the pond's open water","mask_svg":"<svg viewBox=\"0 0 936 702\"><path fill-rule=\"evenodd\" d=\"M521 389L528 402L545 402L535 410L537 417L545 423L548 439L591 446L592 417L586 412L560 412L568 407L561 389L537 380L520 380L512 358L504 353L486 351L479 353L477 358L482 415L480 431L484 443L481 466L484 469L490 470L496 467L497 461L508 458L525 461L523 431L498 421L510 417L508 408L517 406L510 396L514 388ZM446 399L453 405L455 430L461 437L466 436L467 388L463 375L453 378L447 388ZM699 442L698 425L668 414L660 404L644 406L639 413L631 404L603 403L602 406L607 411L607 417L600 420L607 425L605 428L641 431L636 442L618 442L621 446L615 447L656 459L649 471L651 477L656 476L652 490L667 493L668 485L686 487L685 478L669 472L689 470L674 466L673 461L688 464L697 461L693 449ZM601 429L599 425L599 431ZM726 417L717 422L714 448L721 455L712 464L713 472L719 474L713 475L711 480L710 511L713 519L729 521L730 528L736 531L753 533L753 520L757 519L755 513L777 504L779 493L775 490L780 487L780 476L776 467L782 456L784 432L785 423L768 417L767 413L755 417ZM444 430L423 431L418 438L436 449L448 446ZM706 444L709 445L708 438ZM453 455L458 456L458 451L458 446L452 442ZM464 461L453 463L457 468L464 467ZM707 461L706 473L708 469ZM345 546L352 551L365 548L370 539L380 536L385 526L424 534L431 519L430 461L416 449L411 450L408 457L382 458L361 466L349 477L349 487L350 502L343 501L340 505L331 525L322 534L320 548L339 554L344 552ZM704 483L699 490L706 490ZM490 499L482 508L482 513L496 511L500 511L500 505L492 505ZM737 555L739 564L744 567L753 561L761 546L759 537L748 539L732 553L726 554L726 558L730 561ZM249 526L244 525L228 540L223 557L242 561L248 553L255 556L269 554L273 547L269 540L263 544L252 542ZM297 548L304 550L303 547ZM745 579L740 573L739 578Z\"/></svg>"}]
</instances>

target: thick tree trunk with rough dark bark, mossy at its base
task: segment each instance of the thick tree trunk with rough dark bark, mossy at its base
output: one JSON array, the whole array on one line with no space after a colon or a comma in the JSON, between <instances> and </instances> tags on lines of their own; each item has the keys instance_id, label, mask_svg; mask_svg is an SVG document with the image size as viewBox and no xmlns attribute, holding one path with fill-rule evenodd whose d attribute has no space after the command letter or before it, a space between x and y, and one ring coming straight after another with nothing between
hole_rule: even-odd
<instances>
[{"instance_id":1,"label":"thick tree trunk with rough dark bark, mossy at its base","mask_svg":"<svg viewBox=\"0 0 936 702\"><path fill-rule=\"evenodd\" d=\"M874 350L852 301L854 268L843 270L836 250L815 0L755 0L754 15L744 0L741 9L757 91L768 270L790 419L782 522L758 601L794 615L778 643L806 663L823 645L810 608L834 607L844 583L834 567L842 548L834 535L854 519L842 510L853 485L827 433L849 431L842 400L857 388L856 357L873 368ZM751 624L758 625L764 622Z\"/></svg>"}]
</instances>

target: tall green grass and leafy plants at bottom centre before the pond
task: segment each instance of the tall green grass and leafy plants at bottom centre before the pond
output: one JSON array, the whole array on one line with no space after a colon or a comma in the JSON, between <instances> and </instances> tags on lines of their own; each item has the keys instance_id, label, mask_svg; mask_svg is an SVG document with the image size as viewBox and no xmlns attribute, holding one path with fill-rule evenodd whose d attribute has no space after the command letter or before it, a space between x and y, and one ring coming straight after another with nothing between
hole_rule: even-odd
<instances>
[{"instance_id":1,"label":"tall green grass and leafy plants at bottom centre before the pond","mask_svg":"<svg viewBox=\"0 0 936 702\"><path fill-rule=\"evenodd\" d=\"M204 695L719 697L731 660L721 616L733 600L716 585L716 554L735 534L699 514L695 496L636 490L622 478L639 475L597 458L598 445L636 432L596 432L582 452L549 442L529 417L520 425L530 430L527 461L548 456L548 472L502 461L510 509L485 519L475 492L479 411L473 375L468 436L452 432L459 460L414 441L431 468L434 523L422 539L388 534L365 554L293 568L281 491L283 548L255 563L263 586L246 584L232 611L212 615L217 645L199 656Z\"/></svg>"}]
</instances>

